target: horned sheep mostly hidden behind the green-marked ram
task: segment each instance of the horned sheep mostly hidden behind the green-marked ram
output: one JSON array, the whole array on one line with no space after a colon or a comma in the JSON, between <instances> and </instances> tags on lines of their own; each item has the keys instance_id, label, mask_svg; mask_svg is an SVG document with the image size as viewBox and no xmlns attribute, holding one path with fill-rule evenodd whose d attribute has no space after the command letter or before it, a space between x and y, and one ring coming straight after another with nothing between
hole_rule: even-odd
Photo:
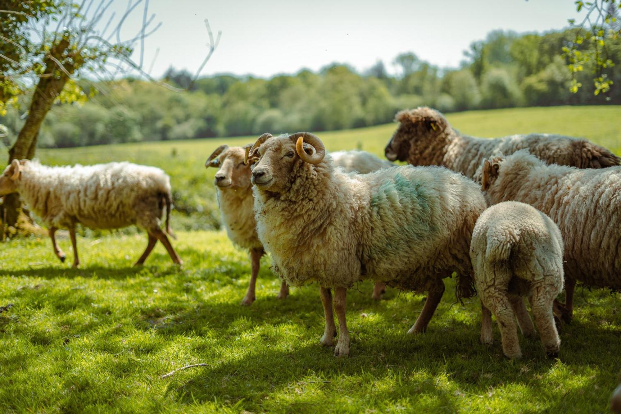
<instances>
[{"instance_id":1,"label":"horned sheep mostly hidden behind the green-marked ram","mask_svg":"<svg viewBox=\"0 0 621 414\"><path fill-rule=\"evenodd\" d=\"M229 239L242 249L250 251L250 283L242 305L251 305L255 301L256 277L259 272L261 256L265 254L263 245L256 234L255 213L253 211L252 183L250 183L250 165L244 163L246 147L229 147L220 145L209 155L205 167L216 167L214 184L217 187L220 217ZM381 160L376 155L365 151L338 151L332 153L335 165L348 172L368 173L379 168L392 167L392 163ZM373 298L379 299L383 293L383 283L376 283ZM284 299L289 295L286 282L281 283L276 298Z\"/></svg>"}]
</instances>

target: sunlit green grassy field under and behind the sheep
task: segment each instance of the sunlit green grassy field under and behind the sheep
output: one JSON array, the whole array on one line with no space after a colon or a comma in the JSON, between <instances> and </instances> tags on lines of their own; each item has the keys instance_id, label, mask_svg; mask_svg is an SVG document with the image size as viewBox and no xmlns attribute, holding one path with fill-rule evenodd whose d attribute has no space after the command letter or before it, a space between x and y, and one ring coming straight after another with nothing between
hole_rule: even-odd
<instances>
[{"instance_id":1,"label":"sunlit green grassy field under and behind the sheep","mask_svg":"<svg viewBox=\"0 0 621 414\"><path fill-rule=\"evenodd\" d=\"M621 154L621 108L525 108L449 116L468 134L557 132L586 136ZM328 149L381 154L394 125L319 134ZM156 247L131 264L143 234L78 240L83 269L68 269L47 237L0 249L0 412L605 412L621 370L621 303L605 290L576 291L573 323L561 331L560 360L520 336L524 358L479 344L476 298L455 302L454 284L427 333L406 333L424 297L371 284L348 295L351 355L319 346L317 287L276 300L279 280L262 261L257 300L239 306L250 264L217 226L204 160L222 142L193 140L40 151L45 163L132 160L171 175L173 228L183 269ZM616 225L616 224L615 224ZM68 239L60 246L71 258ZM187 364L206 366L162 375Z\"/></svg>"}]
</instances>

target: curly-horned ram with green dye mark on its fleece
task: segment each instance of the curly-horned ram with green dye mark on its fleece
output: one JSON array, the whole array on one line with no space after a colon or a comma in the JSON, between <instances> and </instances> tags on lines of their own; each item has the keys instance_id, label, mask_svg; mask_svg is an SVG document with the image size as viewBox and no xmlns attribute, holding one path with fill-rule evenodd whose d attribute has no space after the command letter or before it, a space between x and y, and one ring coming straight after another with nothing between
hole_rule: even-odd
<instances>
[{"instance_id":1,"label":"curly-horned ram with green dye mark on its fleece","mask_svg":"<svg viewBox=\"0 0 621 414\"><path fill-rule=\"evenodd\" d=\"M253 145L256 229L274 270L289 285L317 282L324 305L321 343L349 354L347 289L363 278L428 292L409 333L424 332L442 298L445 277L458 274L458 297L472 297L469 244L485 209L478 186L446 168L392 167L368 174L334 168L309 132ZM332 292L335 297L332 307Z\"/></svg>"}]
</instances>

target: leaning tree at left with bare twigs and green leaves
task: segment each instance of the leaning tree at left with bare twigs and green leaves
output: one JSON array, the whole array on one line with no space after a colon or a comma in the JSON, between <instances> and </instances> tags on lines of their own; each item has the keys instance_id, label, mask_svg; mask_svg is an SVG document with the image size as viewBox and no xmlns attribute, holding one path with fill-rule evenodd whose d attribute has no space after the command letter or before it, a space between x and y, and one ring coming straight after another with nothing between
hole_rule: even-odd
<instances>
[{"instance_id":1,"label":"leaning tree at left with bare twigs and green leaves","mask_svg":"<svg viewBox=\"0 0 621 414\"><path fill-rule=\"evenodd\" d=\"M160 27L153 26L152 15L148 16L148 0L130 0L125 13L115 20L114 13L107 9L114 0L99 0L91 12L94 0L82 0L80 4L64 0L1 0L0 15L9 16L9 24L2 21L0 42L0 110L6 103L17 104L17 96L32 91L28 116L20 129L16 142L9 150L9 163L13 159L32 159L37 147L37 138L43 119L59 99L61 102L85 100L87 98L74 81L84 73L99 76L137 73L138 76L154 80L143 71L144 39ZM142 27L135 37L120 39L123 23L136 7L143 3ZM86 6L86 7L85 7ZM105 19L104 19L105 17ZM102 20L104 19L104 20ZM99 22L106 21L101 27ZM220 39L214 40L206 21L210 39L210 50L199 73L211 57ZM111 32L108 33L108 29ZM35 37L36 35L36 37ZM116 40L111 40L116 38ZM140 62L134 62L130 55L140 42ZM9 53L9 55L7 55ZM12 56L12 57L11 57ZM8 62L8 63L7 63ZM29 88L32 85L32 88ZM99 90L101 83L91 83ZM171 86L168 86L172 88ZM4 198L7 224L17 222L19 197Z\"/></svg>"}]
</instances>

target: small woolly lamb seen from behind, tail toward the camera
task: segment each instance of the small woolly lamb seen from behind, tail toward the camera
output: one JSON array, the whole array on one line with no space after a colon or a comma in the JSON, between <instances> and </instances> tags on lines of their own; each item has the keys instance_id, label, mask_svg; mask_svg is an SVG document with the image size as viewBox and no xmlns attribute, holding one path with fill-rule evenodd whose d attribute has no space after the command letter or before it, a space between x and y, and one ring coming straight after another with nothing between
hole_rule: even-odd
<instances>
[{"instance_id":1,"label":"small woolly lamb seen from behind, tail toward the camera","mask_svg":"<svg viewBox=\"0 0 621 414\"><path fill-rule=\"evenodd\" d=\"M481 343L493 342L491 310L505 356L521 357L515 316L525 336L535 334L520 298L528 296L546 354L558 357L561 341L552 308L563 290L563 238L552 219L518 201L491 206L474 225L470 259L483 310Z\"/></svg>"}]
</instances>

